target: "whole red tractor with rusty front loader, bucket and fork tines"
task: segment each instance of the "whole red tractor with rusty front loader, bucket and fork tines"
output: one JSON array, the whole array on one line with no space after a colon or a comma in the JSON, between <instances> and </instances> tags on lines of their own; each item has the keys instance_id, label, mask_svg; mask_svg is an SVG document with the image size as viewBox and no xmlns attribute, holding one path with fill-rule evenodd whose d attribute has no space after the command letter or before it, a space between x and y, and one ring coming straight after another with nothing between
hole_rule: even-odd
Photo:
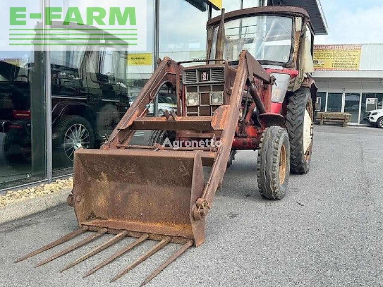
<instances>
[{"instance_id":1,"label":"whole red tractor with rusty front loader, bucket and fork tines","mask_svg":"<svg viewBox=\"0 0 383 287\"><path fill-rule=\"evenodd\" d=\"M126 236L137 238L89 276L141 242L159 241L114 281L167 243L182 244L146 284L190 246L205 241L206 216L236 150L258 150L254 178L259 191L266 199L282 199L290 171L307 173L311 160L316 88L310 75L310 25L307 12L296 7L223 12L208 21L205 64L184 67L198 61L165 57L102 147L75 152L68 202L79 229L18 261L85 231L94 233L38 266L104 233L116 235L66 270ZM147 116L164 85L177 95L177 112ZM154 130L151 145L130 143L137 130Z\"/></svg>"}]
</instances>

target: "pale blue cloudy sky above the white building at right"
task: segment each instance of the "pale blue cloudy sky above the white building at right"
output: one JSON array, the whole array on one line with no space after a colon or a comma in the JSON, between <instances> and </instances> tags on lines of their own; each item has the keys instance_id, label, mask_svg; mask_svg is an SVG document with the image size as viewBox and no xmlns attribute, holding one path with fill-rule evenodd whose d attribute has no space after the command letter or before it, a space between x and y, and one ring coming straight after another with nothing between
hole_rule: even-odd
<instances>
[{"instance_id":1,"label":"pale blue cloudy sky above the white building at right","mask_svg":"<svg viewBox=\"0 0 383 287\"><path fill-rule=\"evenodd\" d=\"M328 35L315 44L383 44L382 0L321 0Z\"/></svg>"}]
</instances>

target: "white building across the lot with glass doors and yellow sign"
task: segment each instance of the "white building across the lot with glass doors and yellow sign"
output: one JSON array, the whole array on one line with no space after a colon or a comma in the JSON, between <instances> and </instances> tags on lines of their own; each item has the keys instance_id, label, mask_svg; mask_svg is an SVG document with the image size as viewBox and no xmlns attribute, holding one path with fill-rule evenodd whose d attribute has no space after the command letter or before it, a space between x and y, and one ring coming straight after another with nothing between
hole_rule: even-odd
<instances>
[{"instance_id":1,"label":"white building across the lot with glass doors and yellow sign","mask_svg":"<svg viewBox=\"0 0 383 287\"><path fill-rule=\"evenodd\" d=\"M363 125L383 108L383 44L317 45L314 65L318 111L350 113L350 124Z\"/></svg>"}]
</instances>

